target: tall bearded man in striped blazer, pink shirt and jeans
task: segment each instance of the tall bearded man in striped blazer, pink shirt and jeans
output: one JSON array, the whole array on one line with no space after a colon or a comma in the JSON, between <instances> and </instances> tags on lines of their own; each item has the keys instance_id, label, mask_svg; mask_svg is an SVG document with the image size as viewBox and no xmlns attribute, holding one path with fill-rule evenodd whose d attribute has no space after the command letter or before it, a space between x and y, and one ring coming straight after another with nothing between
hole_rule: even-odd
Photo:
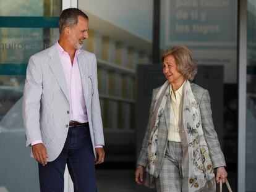
<instances>
[{"instance_id":1,"label":"tall bearded man in striped blazer, pink shirt and jeans","mask_svg":"<svg viewBox=\"0 0 256 192\"><path fill-rule=\"evenodd\" d=\"M63 10L59 41L28 62L23 122L41 191L64 190L66 164L74 191L96 191L95 164L105 152L96 58L80 49L88 30L85 13Z\"/></svg>"}]
</instances>

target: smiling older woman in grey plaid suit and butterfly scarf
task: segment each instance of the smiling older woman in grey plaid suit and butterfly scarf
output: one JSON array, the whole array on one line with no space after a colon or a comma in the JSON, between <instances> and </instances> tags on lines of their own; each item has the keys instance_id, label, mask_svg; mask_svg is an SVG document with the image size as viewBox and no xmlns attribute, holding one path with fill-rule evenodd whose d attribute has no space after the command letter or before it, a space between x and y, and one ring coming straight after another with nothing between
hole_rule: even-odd
<instances>
[{"instance_id":1,"label":"smiling older woman in grey plaid suit and butterfly scarf","mask_svg":"<svg viewBox=\"0 0 256 192\"><path fill-rule=\"evenodd\" d=\"M167 81L153 90L147 131L135 170L135 182L158 192L216 191L226 181L226 166L213 127L207 90L190 83L197 73L184 46L162 56ZM213 173L216 169L216 177Z\"/></svg>"}]
</instances>

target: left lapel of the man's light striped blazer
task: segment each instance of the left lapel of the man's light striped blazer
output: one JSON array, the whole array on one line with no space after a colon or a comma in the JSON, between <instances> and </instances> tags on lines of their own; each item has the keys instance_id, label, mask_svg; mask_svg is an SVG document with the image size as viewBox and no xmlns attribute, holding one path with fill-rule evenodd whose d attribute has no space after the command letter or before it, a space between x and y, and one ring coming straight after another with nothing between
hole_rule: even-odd
<instances>
[{"instance_id":1,"label":"left lapel of the man's light striped blazer","mask_svg":"<svg viewBox=\"0 0 256 192\"><path fill-rule=\"evenodd\" d=\"M51 70L53 70L53 73L59 83L59 86L61 87L61 90L63 91L67 100L69 101L66 77L64 75L61 60L59 59L59 53L55 45L51 47L49 51L49 56L51 57L51 59L49 60L49 67L51 68Z\"/></svg>"}]
</instances>

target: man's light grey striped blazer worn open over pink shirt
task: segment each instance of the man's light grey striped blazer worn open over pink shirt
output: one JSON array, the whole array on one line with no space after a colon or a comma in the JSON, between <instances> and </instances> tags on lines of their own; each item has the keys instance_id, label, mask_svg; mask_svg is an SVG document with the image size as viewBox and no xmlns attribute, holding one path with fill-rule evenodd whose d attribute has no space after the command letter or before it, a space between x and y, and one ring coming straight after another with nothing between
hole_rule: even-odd
<instances>
[{"instance_id":1,"label":"man's light grey striped blazer worn open over pink shirt","mask_svg":"<svg viewBox=\"0 0 256 192\"><path fill-rule=\"evenodd\" d=\"M87 107L88 123L95 145L104 145L95 55L81 49L77 56ZM23 123L26 145L41 140L54 161L62 151L69 125L69 94L56 45L30 57L23 93Z\"/></svg>"}]
</instances>

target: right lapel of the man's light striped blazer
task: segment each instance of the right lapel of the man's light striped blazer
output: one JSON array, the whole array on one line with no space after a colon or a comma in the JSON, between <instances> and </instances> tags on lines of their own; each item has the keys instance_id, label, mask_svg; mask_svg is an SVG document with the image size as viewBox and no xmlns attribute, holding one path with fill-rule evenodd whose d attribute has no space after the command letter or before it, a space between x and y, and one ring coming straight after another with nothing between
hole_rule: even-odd
<instances>
[{"instance_id":1,"label":"right lapel of the man's light striped blazer","mask_svg":"<svg viewBox=\"0 0 256 192\"><path fill-rule=\"evenodd\" d=\"M85 104L88 106L88 59L83 56L82 52L77 55L77 62L79 64L79 70L83 85L83 94L85 96Z\"/></svg>"}]
</instances>

